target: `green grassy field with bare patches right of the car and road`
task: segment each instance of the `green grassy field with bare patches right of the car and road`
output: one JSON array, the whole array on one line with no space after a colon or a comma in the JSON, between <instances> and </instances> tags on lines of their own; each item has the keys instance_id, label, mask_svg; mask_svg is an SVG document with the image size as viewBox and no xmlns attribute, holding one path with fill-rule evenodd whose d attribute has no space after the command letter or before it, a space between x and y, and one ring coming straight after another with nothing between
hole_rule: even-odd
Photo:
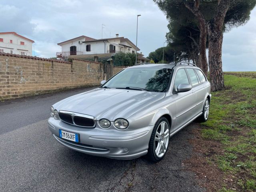
<instances>
[{"instance_id":1,"label":"green grassy field with bare patches right of the car and road","mask_svg":"<svg viewBox=\"0 0 256 192\"><path fill-rule=\"evenodd\" d=\"M215 190L255 192L256 72L225 72L224 81L226 89L212 92L209 119L200 124L204 140L220 143L207 159L222 171Z\"/></svg>"}]
</instances>

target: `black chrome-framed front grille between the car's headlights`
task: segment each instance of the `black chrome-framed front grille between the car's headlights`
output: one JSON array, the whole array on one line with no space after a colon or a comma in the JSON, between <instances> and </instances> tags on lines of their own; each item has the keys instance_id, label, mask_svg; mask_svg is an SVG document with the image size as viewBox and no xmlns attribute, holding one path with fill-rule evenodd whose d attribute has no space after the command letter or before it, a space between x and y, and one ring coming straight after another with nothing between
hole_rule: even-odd
<instances>
[{"instance_id":1,"label":"black chrome-framed front grille between the car's headlights","mask_svg":"<svg viewBox=\"0 0 256 192\"><path fill-rule=\"evenodd\" d=\"M94 116L62 110L59 111L59 116L62 121L76 126L88 128L96 126L96 118Z\"/></svg>"}]
</instances>

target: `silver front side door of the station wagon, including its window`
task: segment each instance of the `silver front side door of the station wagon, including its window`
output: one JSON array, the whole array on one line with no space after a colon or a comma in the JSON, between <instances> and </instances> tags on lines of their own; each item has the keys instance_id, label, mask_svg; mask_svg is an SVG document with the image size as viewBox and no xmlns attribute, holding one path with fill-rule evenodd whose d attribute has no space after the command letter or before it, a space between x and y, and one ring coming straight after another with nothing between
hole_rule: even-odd
<instances>
[{"instance_id":1,"label":"silver front side door of the station wagon, including its window","mask_svg":"<svg viewBox=\"0 0 256 192\"><path fill-rule=\"evenodd\" d=\"M186 124L194 116L192 111L195 107L196 95L193 90L177 92L179 84L190 84L184 68L179 68L174 76L173 98L176 104L175 129Z\"/></svg>"}]
</instances>

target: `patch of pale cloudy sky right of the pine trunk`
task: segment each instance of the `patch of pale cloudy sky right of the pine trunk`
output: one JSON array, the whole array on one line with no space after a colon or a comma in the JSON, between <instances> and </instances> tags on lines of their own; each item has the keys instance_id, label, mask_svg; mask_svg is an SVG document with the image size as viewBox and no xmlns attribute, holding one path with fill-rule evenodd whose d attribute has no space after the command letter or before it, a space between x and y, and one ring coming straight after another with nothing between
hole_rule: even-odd
<instances>
[{"instance_id":1,"label":"patch of pale cloudy sky right of the pine trunk","mask_svg":"<svg viewBox=\"0 0 256 192\"><path fill-rule=\"evenodd\" d=\"M256 8L244 26L224 33L223 71L256 71Z\"/></svg>"}]
</instances>

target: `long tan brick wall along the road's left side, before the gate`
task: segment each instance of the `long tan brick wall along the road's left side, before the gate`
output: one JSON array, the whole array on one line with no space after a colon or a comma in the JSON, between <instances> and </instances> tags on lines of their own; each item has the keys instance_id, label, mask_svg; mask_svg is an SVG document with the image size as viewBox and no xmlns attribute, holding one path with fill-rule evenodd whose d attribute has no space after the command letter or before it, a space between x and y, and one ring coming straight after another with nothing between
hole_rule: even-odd
<instances>
[{"instance_id":1,"label":"long tan brick wall along the road's left side, before the gate","mask_svg":"<svg viewBox=\"0 0 256 192\"><path fill-rule=\"evenodd\" d=\"M98 86L102 64L64 62L0 53L0 100L76 87Z\"/></svg>"}]
</instances>

